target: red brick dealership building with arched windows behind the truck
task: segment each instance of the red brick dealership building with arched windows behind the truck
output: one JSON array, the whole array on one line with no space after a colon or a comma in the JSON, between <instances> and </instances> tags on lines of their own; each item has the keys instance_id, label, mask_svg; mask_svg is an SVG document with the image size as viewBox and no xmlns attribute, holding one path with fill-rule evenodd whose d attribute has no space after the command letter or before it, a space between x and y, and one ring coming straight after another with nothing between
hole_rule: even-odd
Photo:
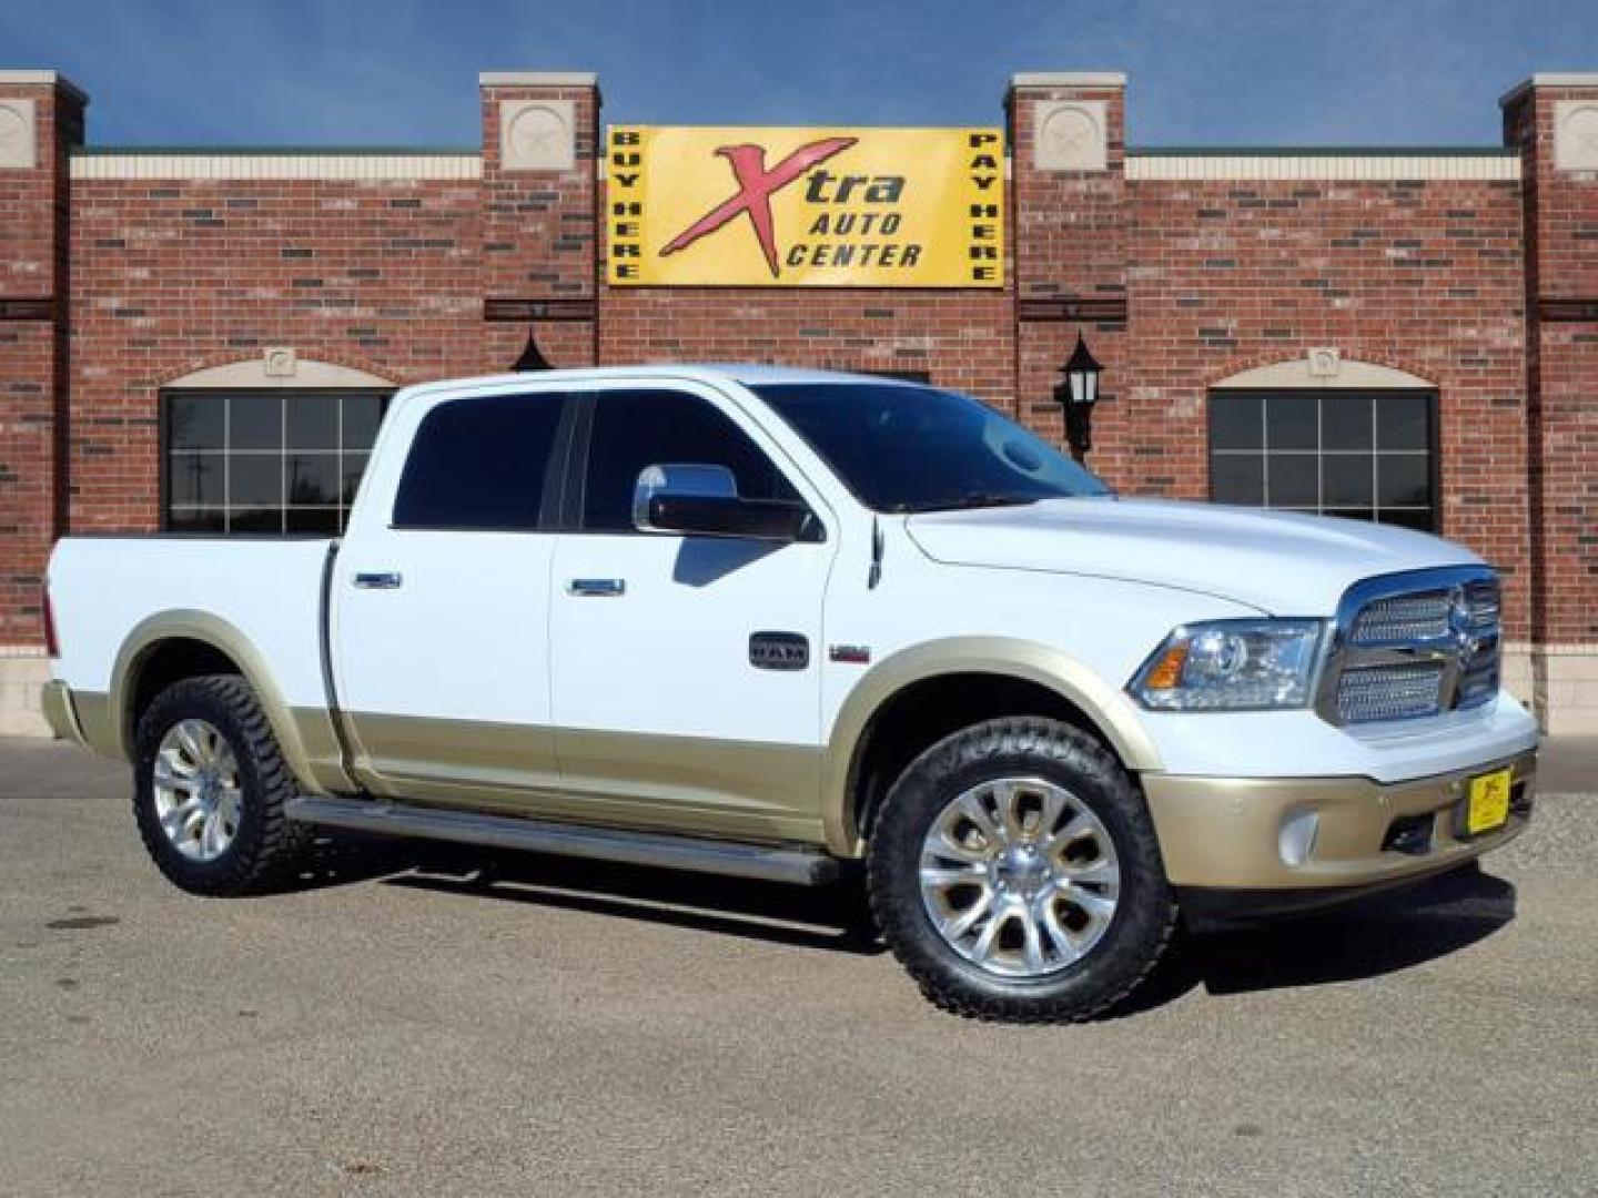
<instances>
[{"instance_id":1,"label":"red brick dealership building with arched windows behind the truck","mask_svg":"<svg viewBox=\"0 0 1598 1198\"><path fill-rule=\"evenodd\" d=\"M1138 150L1120 75L1016 75L994 291L606 286L596 80L479 85L481 147L129 150L0 72L0 730L38 727L56 537L336 529L382 396L529 332L912 372L1058 438L1079 331L1120 490L1461 540L1505 573L1510 685L1598 727L1598 75L1448 150Z\"/></svg>"}]
</instances>

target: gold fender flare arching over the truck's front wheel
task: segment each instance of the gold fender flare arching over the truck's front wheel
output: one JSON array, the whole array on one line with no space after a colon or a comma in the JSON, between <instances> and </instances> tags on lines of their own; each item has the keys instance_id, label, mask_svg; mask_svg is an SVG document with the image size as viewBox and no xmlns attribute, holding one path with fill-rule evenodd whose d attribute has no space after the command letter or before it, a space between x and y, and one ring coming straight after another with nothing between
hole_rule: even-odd
<instances>
[{"instance_id":1,"label":"gold fender flare arching over the truck's front wheel","mask_svg":"<svg viewBox=\"0 0 1598 1198\"><path fill-rule=\"evenodd\" d=\"M1162 770L1160 751L1136 704L1069 653L1036 641L959 636L912 645L873 666L850 690L833 720L823 760L826 843L842 856L860 856L855 767L876 716L904 688L948 674L997 674L1036 682L1069 701L1115 749L1128 770Z\"/></svg>"}]
</instances>

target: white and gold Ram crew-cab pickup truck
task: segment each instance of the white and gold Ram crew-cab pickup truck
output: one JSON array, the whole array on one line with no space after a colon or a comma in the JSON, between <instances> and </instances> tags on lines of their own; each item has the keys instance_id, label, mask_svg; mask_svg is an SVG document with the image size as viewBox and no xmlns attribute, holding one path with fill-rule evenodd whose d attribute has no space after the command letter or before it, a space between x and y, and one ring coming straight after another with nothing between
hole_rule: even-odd
<instances>
[{"instance_id":1,"label":"white and gold Ram crew-cab pickup truck","mask_svg":"<svg viewBox=\"0 0 1598 1198\"><path fill-rule=\"evenodd\" d=\"M67 538L56 732L157 866L312 826L831 880L936 1003L1082 1019L1179 917L1524 826L1499 581L1414 532L1119 500L994 411L775 367L395 396L340 540Z\"/></svg>"}]
</instances>

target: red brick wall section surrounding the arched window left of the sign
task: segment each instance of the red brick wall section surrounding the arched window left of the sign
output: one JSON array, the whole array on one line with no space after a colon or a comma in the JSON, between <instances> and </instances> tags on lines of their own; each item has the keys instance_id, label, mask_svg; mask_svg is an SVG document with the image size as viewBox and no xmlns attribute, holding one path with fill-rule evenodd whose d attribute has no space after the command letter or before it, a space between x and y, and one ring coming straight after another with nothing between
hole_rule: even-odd
<instances>
[{"instance_id":1,"label":"red brick wall section surrounding the arched window left of the sign","mask_svg":"<svg viewBox=\"0 0 1598 1198\"><path fill-rule=\"evenodd\" d=\"M401 383L508 364L478 222L470 180L77 180L72 527L157 527L157 396L192 371L268 345Z\"/></svg>"}]
</instances>

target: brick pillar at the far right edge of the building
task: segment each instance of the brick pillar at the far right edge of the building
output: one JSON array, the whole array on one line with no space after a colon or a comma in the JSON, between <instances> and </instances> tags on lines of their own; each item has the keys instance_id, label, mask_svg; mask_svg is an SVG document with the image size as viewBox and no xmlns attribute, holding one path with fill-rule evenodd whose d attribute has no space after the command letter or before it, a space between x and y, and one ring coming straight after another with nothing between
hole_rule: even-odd
<instances>
[{"instance_id":1,"label":"brick pillar at the far right edge of the building","mask_svg":"<svg viewBox=\"0 0 1598 1198\"><path fill-rule=\"evenodd\" d=\"M1598 732L1598 73L1502 105L1526 203L1532 679L1550 732Z\"/></svg>"}]
</instances>

